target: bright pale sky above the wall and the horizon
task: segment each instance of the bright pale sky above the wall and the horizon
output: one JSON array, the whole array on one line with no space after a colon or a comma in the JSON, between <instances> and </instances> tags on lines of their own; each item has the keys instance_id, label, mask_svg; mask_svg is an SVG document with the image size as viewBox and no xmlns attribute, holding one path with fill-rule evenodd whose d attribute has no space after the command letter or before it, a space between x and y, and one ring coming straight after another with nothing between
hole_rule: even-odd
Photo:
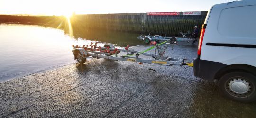
<instances>
[{"instance_id":1,"label":"bright pale sky above the wall and the horizon","mask_svg":"<svg viewBox=\"0 0 256 118\"><path fill-rule=\"evenodd\" d=\"M234 0L0 0L0 14L71 15L206 11Z\"/></svg>"}]
</instances>

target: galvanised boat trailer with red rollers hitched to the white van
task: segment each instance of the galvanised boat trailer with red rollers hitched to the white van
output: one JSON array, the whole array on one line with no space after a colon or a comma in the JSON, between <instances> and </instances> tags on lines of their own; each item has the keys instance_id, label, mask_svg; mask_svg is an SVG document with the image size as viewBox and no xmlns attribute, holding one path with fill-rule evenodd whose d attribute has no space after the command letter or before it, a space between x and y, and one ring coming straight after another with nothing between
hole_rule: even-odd
<instances>
[{"instance_id":1,"label":"galvanised boat trailer with red rollers hitched to the white van","mask_svg":"<svg viewBox=\"0 0 256 118\"><path fill-rule=\"evenodd\" d=\"M89 58L104 58L108 60L115 61L128 61L128 62L138 62L139 64L161 64L161 65L188 65L193 66L193 63L186 62L186 59L175 59L168 56L164 56L167 45L160 46L161 44L153 44L154 46L147 49L146 51L140 52L135 50L129 50L129 45L125 49L115 48L113 44L105 44L103 47L97 46L97 42L93 45L83 45L82 47L76 45L73 46L74 59L80 64L85 63L86 59ZM89 47L90 46L90 47ZM155 54L146 53L147 51L155 48ZM156 54L156 51L158 54ZM124 55L120 54L124 52ZM119 54L119 56L118 56ZM145 55L147 57L152 57L153 59L140 58L140 55Z\"/></svg>"}]
</instances>

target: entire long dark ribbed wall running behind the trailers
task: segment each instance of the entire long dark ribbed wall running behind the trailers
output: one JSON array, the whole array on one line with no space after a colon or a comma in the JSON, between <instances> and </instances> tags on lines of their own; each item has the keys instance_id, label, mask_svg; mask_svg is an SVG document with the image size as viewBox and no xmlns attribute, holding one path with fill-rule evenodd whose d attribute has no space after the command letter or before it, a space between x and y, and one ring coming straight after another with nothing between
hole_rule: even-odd
<instances>
[{"instance_id":1,"label":"entire long dark ribbed wall running behind the trailers","mask_svg":"<svg viewBox=\"0 0 256 118\"><path fill-rule=\"evenodd\" d=\"M178 13L179 15L148 15L147 13L75 15L71 21L73 27L92 30L178 36L179 32L192 32L195 25L201 28L207 11L202 11L200 15Z\"/></svg>"}]
</instances>

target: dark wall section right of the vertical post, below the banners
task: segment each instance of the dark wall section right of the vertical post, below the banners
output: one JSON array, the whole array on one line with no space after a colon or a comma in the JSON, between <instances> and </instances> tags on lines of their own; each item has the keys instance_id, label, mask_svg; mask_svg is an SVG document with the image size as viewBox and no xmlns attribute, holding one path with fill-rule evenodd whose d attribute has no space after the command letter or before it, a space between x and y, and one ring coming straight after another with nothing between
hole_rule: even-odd
<instances>
[{"instance_id":1,"label":"dark wall section right of the vertical post, below the banners","mask_svg":"<svg viewBox=\"0 0 256 118\"><path fill-rule=\"evenodd\" d=\"M146 16L143 32L179 36L179 32L192 32L194 26L198 26L199 29L201 29L206 14L207 13L202 15Z\"/></svg>"}]
</instances>

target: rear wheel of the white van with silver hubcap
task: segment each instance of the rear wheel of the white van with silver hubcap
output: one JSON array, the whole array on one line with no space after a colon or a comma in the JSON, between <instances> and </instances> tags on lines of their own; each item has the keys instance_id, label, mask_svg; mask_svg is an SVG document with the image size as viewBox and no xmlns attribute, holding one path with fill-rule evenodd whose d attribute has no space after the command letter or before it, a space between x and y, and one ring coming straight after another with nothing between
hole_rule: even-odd
<instances>
[{"instance_id":1,"label":"rear wheel of the white van with silver hubcap","mask_svg":"<svg viewBox=\"0 0 256 118\"><path fill-rule=\"evenodd\" d=\"M256 76L246 72L231 72L219 80L219 90L231 100L248 103L256 100Z\"/></svg>"}]
</instances>

